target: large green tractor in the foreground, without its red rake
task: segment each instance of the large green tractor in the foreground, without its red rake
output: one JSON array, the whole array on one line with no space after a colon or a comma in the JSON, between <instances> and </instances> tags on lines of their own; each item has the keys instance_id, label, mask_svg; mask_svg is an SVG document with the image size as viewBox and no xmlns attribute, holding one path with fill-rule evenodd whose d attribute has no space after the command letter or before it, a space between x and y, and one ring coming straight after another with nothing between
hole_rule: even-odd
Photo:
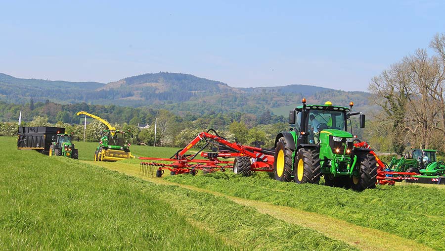
<instances>
[{"instance_id":1,"label":"large green tractor in the foreground, without its red rake","mask_svg":"<svg viewBox=\"0 0 445 251\"><path fill-rule=\"evenodd\" d=\"M289 123L295 128L275 139L274 178L316 184L324 175L328 186L356 191L375 188L377 160L370 149L354 147L358 140L348 132L350 117L359 115L364 128L365 115L351 112L353 102L350 107L302 102L289 112Z\"/></svg>"}]
</instances>

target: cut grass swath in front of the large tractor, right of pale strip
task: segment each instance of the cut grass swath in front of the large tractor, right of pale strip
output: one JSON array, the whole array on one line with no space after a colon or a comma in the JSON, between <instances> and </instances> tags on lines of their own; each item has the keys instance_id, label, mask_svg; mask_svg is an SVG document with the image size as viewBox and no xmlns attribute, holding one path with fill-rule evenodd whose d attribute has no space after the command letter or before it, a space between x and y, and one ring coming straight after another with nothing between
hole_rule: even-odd
<instances>
[{"instance_id":1,"label":"cut grass swath in front of the large tractor, right of pale strip","mask_svg":"<svg viewBox=\"0 0 445 251\"><path fill-rule=\"evenodd\" d=\"M346 220L445 250L445 190L380 186L358 193L320 185L277 182L268 175L232 173L166 176L167 180L226 195L272 202Z\"/></svg>"}]
</instances>

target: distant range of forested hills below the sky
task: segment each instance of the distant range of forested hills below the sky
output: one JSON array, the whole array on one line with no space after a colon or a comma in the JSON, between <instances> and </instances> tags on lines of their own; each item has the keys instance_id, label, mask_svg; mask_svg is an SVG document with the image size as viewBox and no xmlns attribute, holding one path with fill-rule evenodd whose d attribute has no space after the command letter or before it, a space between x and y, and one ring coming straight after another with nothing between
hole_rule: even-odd
<instances>
[{"instance_id":1,"label":"distant range of forested hills below the sky","mask_svg":"<svg viewBox=\"0 0 445 251\"><path fill-rule=\"evenodd\" d=\"M220 82L182 73L149 73L101 84L19 79L0 75L0 100L13 103L45 102L61 104L86 102L132 107L168 109L177 114L203 115L211 111L262 114L269 109L286 115L300 103L325 102L357 106L368 103L368 93L345 92L308 85L234 88Z\"/></svg>"}]
</instances>

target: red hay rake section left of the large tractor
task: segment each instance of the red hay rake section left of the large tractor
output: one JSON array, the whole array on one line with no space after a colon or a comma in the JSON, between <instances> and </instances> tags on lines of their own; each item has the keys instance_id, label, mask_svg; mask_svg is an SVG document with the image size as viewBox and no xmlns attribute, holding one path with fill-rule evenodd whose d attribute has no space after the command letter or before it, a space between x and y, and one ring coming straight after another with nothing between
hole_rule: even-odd
<instances>
[{"instance_id":1,"label":"red hay rake section left of the large tractor","mask_svg":"<svg viewBox=\"0 0 445 251\"><path fill-rule=\"evenodd\" d=\"M211 134L210 132L213 132ZM198 142L205 141L206 144L195 154L186 154ZM215 151L203 151L209 145L216 146ZM156 170L156 177L161 177L165 170L169 170L172 175L176 174L192 174L195 175L199 170L203 173L211 173L218 170L233 168L233 161L222 160L233 157L246 156L251 159L251 171L272 171L273 151L240 145L239 143L229 142L227 139L218 135L218 133L210 129L207 132L201 132L195 139L190 142L184 149L179 150L170 158L155 157L139 157L141 160L153 160L156 162L141 162L140 174L153 174ZM205 159L195 159L198 155ZM170 162L160 163L158 161Z\"/></svg>"}]
</instances>

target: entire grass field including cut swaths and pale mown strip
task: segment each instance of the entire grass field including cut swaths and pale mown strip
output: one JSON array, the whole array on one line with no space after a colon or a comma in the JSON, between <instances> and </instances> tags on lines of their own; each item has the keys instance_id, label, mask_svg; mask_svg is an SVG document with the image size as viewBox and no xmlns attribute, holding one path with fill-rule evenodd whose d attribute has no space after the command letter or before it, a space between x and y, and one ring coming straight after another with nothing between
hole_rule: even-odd
<instances>
[{"instance_id":1,"label":"entire grass field including cut swaths and pale mown strip","mask_svg":"<svg viewBox=\"0 0 445 251\"><path fill-rule=\"evenodd\" d=\"M445 250L444 189L140 177L138 159L91 161L97 143L75 142L80 160L15 144L0 137L0 250Z\"/></svg>"}]
</instances>

